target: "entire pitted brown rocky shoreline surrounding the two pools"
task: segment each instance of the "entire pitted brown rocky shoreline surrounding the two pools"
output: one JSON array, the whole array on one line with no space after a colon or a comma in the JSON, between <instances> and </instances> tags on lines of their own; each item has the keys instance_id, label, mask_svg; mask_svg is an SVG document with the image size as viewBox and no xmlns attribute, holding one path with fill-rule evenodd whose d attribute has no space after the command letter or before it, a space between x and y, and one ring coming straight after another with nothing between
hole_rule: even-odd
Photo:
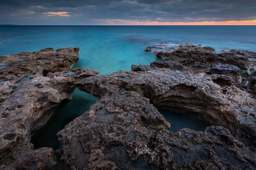
<instances>
[{"instance_id":1,"label":"entire pitted brown rocky shoreline surrounding the two pools","mask_svg":"<svg viewBox=\"0 0 256 170\"><path fill-rule=\"evenodd\" d=\"M100 75L76 68L78 48L0 56L0 169L255 169L256 53L168 43L163 60ZM78 87L99 97L33 150L31 136ZM170 132L157 108L191 112L209 126Z\"/></svg>"}]
</instances>

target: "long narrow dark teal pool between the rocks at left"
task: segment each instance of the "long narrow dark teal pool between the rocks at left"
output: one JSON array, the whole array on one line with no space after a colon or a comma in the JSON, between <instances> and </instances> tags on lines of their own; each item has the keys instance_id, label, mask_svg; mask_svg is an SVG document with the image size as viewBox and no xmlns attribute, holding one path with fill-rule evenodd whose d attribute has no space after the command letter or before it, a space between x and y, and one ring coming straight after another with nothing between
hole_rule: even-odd
<instances>
[{"instance_id":1,"label":"long narrow dark teal pool between the rocks at left","mask_svg":"<svg viewBox=\"0 0 256 170\"><path fill-rule=\"evenodd\" d=\"M34 148L50 147L59 148L57 133L62 130L66 124L82 115L86 110L95 104L98 98L91 94L81 92L75 89L72 101L60 109L42 129L31 138Z\"/></svg>"}]
</instances>

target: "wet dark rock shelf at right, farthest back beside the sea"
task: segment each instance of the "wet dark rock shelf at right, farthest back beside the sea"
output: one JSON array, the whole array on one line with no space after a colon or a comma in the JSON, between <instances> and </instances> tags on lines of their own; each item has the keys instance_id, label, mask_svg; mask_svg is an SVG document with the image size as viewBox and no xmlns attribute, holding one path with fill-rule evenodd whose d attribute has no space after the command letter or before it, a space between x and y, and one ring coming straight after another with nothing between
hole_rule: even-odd
<instances>
[{"instance_id":1,"label":"wet dark rock shelf at right, farthest back beside the sea","mask_svg":"<svg viewBox=\"0 0 256 170\"><path fill-rule=\"evenodd\" d=\"M149 47L146 48L148 51ZM169 46L160 44L150 47L158 58L169 62L153 62L151 66L189 69L191 72L205 72L209 75L227 75L231 82L241 90L248 91L256 98L256 52L246 50L231 50L229 52L216 53L211 47L202 47L190 44L178 44ZM217 78L216 81L227 81Z\"/></svg>"}]
</instances>

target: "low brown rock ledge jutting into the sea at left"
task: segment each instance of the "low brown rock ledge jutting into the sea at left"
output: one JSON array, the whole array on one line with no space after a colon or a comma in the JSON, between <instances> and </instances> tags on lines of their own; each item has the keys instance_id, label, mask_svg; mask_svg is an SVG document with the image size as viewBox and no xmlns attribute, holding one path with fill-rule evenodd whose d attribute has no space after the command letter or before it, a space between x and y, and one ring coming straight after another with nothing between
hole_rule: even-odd
<instances>
[{"instance_id":1,"label":"low brown rock ledge jutting into the sea at left","mask_svg":"<svg viewBox=\"0 0 256 170\"><path fill-rule=\"evenodd\" d=\"M78 62L79 48L54 50L46 48L38 52L20 52L0 57L0 79L9 80L13 76L43 72L60 72Z\"/></svg>"}]
</instances>

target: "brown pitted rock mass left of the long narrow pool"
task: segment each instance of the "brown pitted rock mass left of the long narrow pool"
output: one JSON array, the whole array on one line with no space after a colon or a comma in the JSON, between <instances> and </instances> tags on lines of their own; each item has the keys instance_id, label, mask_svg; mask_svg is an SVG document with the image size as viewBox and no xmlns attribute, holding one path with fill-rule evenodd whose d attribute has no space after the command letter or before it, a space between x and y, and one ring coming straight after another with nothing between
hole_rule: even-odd
<instances>
[{"instance_id":1,"label":"brown pitted rock mass left of the long narrow pool","mask_svg":"<svg viewBox=\"0 0 256 170\"><path fill-rule=\"evenodd\" d=\"M99 72L70 69L79 48L0 56L0 165L33 149L31 136L72 99L76 81ZM39 151L40 152L40 151Z\"/></svg>"}]
</instances>

